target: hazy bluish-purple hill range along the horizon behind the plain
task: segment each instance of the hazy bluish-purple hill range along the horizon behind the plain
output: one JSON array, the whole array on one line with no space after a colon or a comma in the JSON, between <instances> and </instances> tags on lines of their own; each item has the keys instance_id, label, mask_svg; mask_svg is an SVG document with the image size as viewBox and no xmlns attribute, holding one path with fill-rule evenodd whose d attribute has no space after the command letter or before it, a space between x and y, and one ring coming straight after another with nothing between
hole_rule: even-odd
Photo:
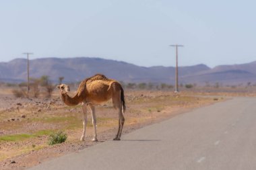
<instances>
[{"instance_id":1,"label":"hazy bluish-purple hill range along the horizon behind the plain","mask_svg":"<svg viewBox=\"0 0 256 170\"><path fill-rule=\"evenodd\" d=\"M0 62L0 81L26 81L27 61L17 58ZM38 58L30 60L30 77L48 75L57 82L65 77L65 82L82 81L86 77L102 73L107 77L125 82L152 82L174 84L174 67L139 67L127 62L102 58ZM243 65L223 65L211 69L206 65L179 67L180 83L256 83L256 61Z\"/></svg>"}]
</instances>

